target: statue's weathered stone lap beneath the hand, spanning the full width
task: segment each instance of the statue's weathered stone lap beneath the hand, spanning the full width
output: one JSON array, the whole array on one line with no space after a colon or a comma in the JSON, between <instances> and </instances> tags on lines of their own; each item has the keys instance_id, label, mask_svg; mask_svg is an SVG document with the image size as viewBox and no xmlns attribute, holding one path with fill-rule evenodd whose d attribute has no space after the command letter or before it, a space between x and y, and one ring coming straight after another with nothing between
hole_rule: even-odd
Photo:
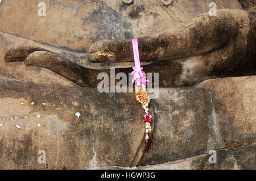
<instances>
[{"instance_id":1,"label":"statue's weathered stone lap beneath the hand, spanning the full width","mask_svg":"<svg viewBox=\"0 0 256 181\"><path fill-rule=\"evenodd\" d=\"M170 169L254 168L255 81L223 78L159 89L150 110L154 145L145 154L143 109L133 93L1 79L1 169L122 169L168 162L176 164ZM46 164L38 163L39 150L46 151ZM221 155L215 166L207 163L209 150ZM194 157L193 167L176 163Z\"/></svg>"}]
</instances>

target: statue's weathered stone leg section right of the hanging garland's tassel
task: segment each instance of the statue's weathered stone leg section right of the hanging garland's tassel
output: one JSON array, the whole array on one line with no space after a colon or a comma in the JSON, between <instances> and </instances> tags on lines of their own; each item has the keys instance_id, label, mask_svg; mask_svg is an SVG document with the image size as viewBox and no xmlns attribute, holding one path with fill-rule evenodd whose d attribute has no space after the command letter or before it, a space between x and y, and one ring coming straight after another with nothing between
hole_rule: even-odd
<instances>
[{"instance_id":1,"label":"statue's weathered stone leg section right of the hanging garland's tassel","mask_svg":"<svg viewBox=\"0 0 256 181\"><path fill-rule=\"evenodd\" d=\"M160 89L155 145L138 165L154 165L256 142L253 77L212 79L195 88Z\"/></svg>"}]
</instances>

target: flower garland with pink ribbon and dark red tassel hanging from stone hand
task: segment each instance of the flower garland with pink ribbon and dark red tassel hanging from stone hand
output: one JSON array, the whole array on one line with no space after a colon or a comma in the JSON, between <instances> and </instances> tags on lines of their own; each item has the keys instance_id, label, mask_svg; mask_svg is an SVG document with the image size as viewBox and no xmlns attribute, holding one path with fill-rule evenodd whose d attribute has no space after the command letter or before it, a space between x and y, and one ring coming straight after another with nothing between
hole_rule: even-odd
<instances>
[{"instance_id":1,"label":"flower garland with pink ribbon and dark red tassel hanging from stone hand","mask_svg":"<svg viewBox=\"0 0 256 181\"><path fill-rule=\"evenodd\" d=\"M135 82L136 100L142 104L142 107L146 112L146 115L143 115L145 128L146 128L144 151L147 151L148 153L148 150L151 149L151 145L153 144L153 139L154 139L154 137L152 136L152 129L151 129L151 124L152 124L152 120L154 120L154 116L148 115L148 104L150 103L150 97L148 95L146 85L147 85L147 82L149 81L144 71L142 71L143 68L141 67L141 62L139 61L138 40L131 39L131 43L133 44L133 54L134 54L134 63L135 63L135 66L133 66L133 72L131 72L131 75L134 75L133 83Z\"/></svg>"}]
</instances>

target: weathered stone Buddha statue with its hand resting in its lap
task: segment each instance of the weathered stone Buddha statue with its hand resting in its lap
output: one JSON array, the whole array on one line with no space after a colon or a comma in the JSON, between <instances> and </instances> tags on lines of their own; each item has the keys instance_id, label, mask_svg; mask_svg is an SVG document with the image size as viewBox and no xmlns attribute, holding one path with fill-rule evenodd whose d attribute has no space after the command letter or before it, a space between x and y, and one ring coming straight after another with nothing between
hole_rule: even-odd
<instances>
[{"instance_id":1,"label":"weathered stone Buddha statue with its hand resting in its lap","mask_svg":"<svg viewBox=\"0 0 256 181\"><path fill-rule=\"evenodd\" d=\"M0 127L0 153L5 153L0 169L134 167L236 148L235 133L220 138L222 130L211 126L216 115L223 113L220 117L226 121L228 116L215 111L213 106L221 103L212 100L203 81L256 74L255 5L218 1L217 14L210 15L215 11L210 3L65 0L46 1L42 10L35 2L3 0L0 119L5 126ZM40 14L41 10L45 12ZM146 73L159 73L160 87L197 87L163 89L164 94L184 94L183 101L197 102L184 106L187 112L191 107L197 112L185 116L177 111L181 107L167 107L175 114L173 120L163 121L161 109L166 107L159 110L161 103L152 100L158 143L149 154L142 151L143 109L133 94L100 94L94 88L100 82L98 74L110 75L113 68L128 77L134 64L133 37L138 37L141 65ZM175 104L163 97L163 102ZM188 117L193 121L184 123ZM165 129L167 124L176 131ZM185 135L189 142L175 135ZM248 135L251 132L243 136L250 144L255 137ZM169 140L174 145L166 144ZM246 145L245 139L239 141ZM46 151L46 163L38 163L39 150ZM196 158L195 163L203 164L204 159Z\"/></svg>"}]
</instances>

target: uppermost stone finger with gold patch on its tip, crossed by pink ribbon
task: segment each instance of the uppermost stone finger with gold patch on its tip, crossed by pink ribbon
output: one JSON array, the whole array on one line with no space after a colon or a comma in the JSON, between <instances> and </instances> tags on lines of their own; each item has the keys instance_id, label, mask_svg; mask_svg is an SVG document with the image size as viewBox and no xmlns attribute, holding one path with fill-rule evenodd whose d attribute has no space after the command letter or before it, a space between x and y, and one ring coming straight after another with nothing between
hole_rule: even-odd
<instances>
[{"instance_id":1,"label":"uppermost stone finger with gold patch on its tip, crossed by pink ribbon","mask_svg":"<svg viewBox=\"0 0 256 181\"><path fill-rule=\"evenodd\" d=\"M236 41L241 33L240 22L246 17L245 11L219 10L218 16L206 13L171 30L139 37L141 62L192 57L224 47ZM94 62L134 60L130 40L96 42L91 45L87 55Z\"/></svg>"}]
</instances>

